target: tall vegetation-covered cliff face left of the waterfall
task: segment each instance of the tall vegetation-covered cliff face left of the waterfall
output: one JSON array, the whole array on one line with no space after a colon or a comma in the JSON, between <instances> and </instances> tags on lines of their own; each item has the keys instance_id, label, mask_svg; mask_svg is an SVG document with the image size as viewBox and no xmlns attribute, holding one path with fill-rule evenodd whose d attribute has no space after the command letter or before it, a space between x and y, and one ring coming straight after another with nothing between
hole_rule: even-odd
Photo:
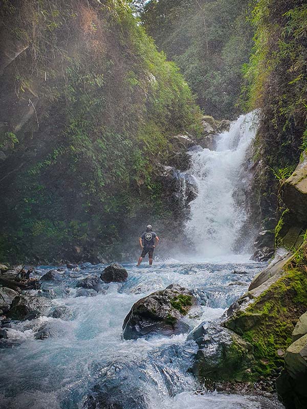
<instances>
[{"instance_id":1,"label":"tall vegetation-covered cliff face left of the waterfall","mask_svg":"<svg viewBox=\"0 0 307 409\"><path fill-rule=\"evenodd\" d=\"M1 259L119 253L130 226L172 218L156 164L198 132L190 90L124 0L1 13Z\"/></svg>"}]
</instances>

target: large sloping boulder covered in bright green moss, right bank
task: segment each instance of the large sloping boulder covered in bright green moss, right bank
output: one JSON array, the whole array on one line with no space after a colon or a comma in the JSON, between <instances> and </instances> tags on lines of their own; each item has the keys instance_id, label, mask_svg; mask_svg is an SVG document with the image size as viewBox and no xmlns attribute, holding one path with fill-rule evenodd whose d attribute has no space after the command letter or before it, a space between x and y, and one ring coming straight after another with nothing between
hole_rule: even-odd
<instances>
[{"instance_id":1,"label":"large sloping boulder covered in bright green moss, right bank","mask_svg":"<svg viewBox=\"0 0 307 409\"><path fill-rule=\"evenodd\" d=\"M252 345L259 376L283 365L277 351L290 346L294 325L306 311L305 250L283 260L273 277L248 291L227 312L224 325Z\"/></svg>"}]
</instances>

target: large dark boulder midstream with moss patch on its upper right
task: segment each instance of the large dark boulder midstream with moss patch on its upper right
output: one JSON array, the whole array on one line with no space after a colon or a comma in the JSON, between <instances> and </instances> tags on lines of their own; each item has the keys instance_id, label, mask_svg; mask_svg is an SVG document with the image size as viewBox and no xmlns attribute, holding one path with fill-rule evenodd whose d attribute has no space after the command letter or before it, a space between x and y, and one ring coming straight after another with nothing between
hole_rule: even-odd
<instances>
[{"instance_id":1,"label":"large dark boulder midstream with moss patch on its upper right","mask_svg":"<svg viewBox=\"0 0 307 409\"><path fill-rule=\"evenodd\" d=\"M137 301L123 323L123 338L137 339L162 334L169 336L189 331L183 317L196 304L189 290L170 285Z\"/></svg>"}]
</instances>

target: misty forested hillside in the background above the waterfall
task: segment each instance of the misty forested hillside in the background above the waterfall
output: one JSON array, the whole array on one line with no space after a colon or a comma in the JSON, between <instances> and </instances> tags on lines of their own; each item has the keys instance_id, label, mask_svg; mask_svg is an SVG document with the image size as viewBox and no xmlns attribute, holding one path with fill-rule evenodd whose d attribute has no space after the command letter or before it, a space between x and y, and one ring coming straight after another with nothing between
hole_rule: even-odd
<instances>
[{"instance_id":1,"label":"misty forested hillside in the background above the waterfall","mask_svg":"<svg viewBox=\"0 0 307 409\"><path fill-rule=\"evenodd\" d=\"M235 118L253 29L249 0L150 0L141 18L206 114Z\"/></svg>"}]
</instances>

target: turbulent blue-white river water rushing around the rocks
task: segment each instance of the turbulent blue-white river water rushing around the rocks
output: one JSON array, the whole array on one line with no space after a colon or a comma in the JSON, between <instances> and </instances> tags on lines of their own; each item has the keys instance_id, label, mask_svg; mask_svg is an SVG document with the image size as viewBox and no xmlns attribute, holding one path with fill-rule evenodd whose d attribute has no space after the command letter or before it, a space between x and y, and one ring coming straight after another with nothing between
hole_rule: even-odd
<instances>
[{"instance_id":1,"label":"turbulent blue-white river water rushing around the rocks","mask_svg":"<svg viewBox=\"0 0 307 409\"><path fill-rule=\"evenodd\" d=\"M97 388L122 402L124 409L275 407L270 402L265 406L260 398L194 395L199 385L187 371L197 347L187 341L187 334L121 338L124 317L133 303L174 282L192 288L201 303L187 318L191 327L215 321L233 298L244 292L244 287L229 283L240 279L248 285L263 265L159 263L150 269L145 265L125 267L127 282L112 284L96 297L75 297L75 276L99 274L102 265L79 272L67 270L63 281L43 284L61 294L53 303L67 307L70 313L63 319L42 316L15 322L8 330L9 339L4 343L13 347L0 350L0 407L77 409ZM242 272L233 274L235 269ZM40 269L40 274L43 272L46 269ZM35 339L42 325L51 336Z\"/></svg>"}]
</instances>

